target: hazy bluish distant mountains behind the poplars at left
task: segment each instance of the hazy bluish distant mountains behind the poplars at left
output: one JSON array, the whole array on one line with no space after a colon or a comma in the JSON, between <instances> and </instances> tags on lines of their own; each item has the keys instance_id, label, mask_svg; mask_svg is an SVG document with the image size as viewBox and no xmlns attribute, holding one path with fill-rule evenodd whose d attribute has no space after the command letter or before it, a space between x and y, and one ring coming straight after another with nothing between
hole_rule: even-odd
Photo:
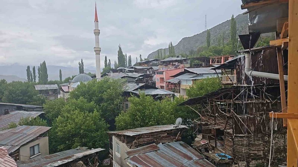
<instances>
[{"instance_id":1,"label":"hazy bluish distant mountains behind the poplars at left","mask_svg":"<svg viewBox=\"0 0 298 167\"><path fill-rule=\"evenodd\" d=\"M49 74L49 80L59 80L59 69L62 71L62 79L72 76L72 75L77 75L79 74L79 68L74 68L74 67L63 67L63 66L53 66L53 65L47 65L46 66L48 69L48 74ZM31 70L33 66L30 66ZM35 66L36 69L36 75L37 75L37 68L38 66ZM8 65L8 66L0 66L0 75L4 76L15 76L20 78L21 81L22 79L26 78L27 79L27 73L26 73L27 66L20 65L18 63ZM89 69L84 69L86 73L91 72L91 73L96 73L95 70L89 70ZM17 78L15 78L17 79ZM38 79L36 77L36 79Z\"/></svg>"}]
</instances>

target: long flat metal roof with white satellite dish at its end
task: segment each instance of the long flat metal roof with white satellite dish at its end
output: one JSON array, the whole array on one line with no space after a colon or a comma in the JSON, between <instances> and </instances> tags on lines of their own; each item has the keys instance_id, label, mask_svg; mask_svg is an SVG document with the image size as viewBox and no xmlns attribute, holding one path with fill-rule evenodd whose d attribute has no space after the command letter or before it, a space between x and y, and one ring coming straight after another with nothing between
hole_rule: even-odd
<instances>
[{"instance_id":1,"label":"long flat metal roof with white satellite dish at its end","mask_svg":"<svg viewBox=\"0 0 298 167\"><path fill-rule=\"evenodd\" d=\"M135 129L128 129L123 131L114 131L114 132L108 132L110 134L121 134L121 135L127 135L127 136L135 136L145 133L152 133L152 132L159 132L159 131L167 131L174 128L176 125L157 125L157 126L149 126L144 128L135 128ZM185 125L181 125L181 128L187 128Z\"/></svg>"}]
</instances>

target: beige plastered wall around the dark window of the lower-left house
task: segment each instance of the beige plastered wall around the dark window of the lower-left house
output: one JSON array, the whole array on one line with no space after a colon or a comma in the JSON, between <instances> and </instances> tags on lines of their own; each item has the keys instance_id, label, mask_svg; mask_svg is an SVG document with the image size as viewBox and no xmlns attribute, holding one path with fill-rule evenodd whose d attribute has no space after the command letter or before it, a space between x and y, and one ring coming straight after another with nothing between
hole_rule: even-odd
<instances>
[{"instance_id":1,"label":"beige plastered wall around the dark window of the lower-left house","mask_svg":"<svg viewBox=\"0 0 298 167\"><path fill-rule=\"evenodd\" d=\"M29 160L30 159L30 147L34 146L36 144L39 144L39 152L40 155L36 157L42 157L45 155L49 155L49 138L47 136L45 137L38 137L37 140L32 141L28 143L27 145L24 145L20 147L19 160Z\"/></svg>"}]
</instances>

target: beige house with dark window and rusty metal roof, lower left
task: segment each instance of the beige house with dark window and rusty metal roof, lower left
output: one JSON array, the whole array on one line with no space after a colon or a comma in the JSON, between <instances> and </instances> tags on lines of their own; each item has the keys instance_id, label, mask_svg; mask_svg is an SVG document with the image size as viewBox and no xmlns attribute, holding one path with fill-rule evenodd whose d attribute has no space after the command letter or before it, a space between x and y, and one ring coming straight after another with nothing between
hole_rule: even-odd
<instances>
[{"instance_id":1,"label":"beige house with dark window and rusty metal roof, lower left","mask_svg":"<svg viewBox=\"0 0 298 167\"><path fill-rule=\"evenodd\" d=\"M50 128L23 125L0 131L0 147L5 147L15 161L49 155L47 132Z\"/></svg>"}]
</instances>

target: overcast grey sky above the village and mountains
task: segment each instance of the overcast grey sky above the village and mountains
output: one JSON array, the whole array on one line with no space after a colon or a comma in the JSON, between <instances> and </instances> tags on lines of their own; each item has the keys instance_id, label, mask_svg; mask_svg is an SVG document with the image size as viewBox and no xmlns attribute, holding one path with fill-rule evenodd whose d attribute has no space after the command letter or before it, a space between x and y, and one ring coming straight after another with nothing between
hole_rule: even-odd
<instances>
[{"instance_id":1,"label":"overcast grey sky above the village and mountains","mask_svg":"<svg viewBox=\"0 0 298 167\"><path fill-rule=\"evenodd\" d=\"M0 65L49 65L95 69L93 0L0 0ZM97 0L101 66L105 55L146 58L244 12L240 0ZM139 59L139 58L138 58Z\"/></svg>"}]
</instances>

